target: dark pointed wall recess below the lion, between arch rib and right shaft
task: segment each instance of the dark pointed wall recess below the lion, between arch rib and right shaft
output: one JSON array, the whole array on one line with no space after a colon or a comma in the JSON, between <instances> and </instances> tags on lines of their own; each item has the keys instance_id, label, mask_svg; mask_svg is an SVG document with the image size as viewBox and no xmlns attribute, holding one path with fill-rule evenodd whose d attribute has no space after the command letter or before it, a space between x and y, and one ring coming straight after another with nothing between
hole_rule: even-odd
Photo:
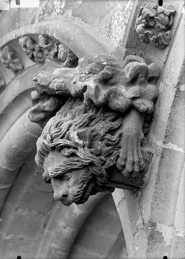
<instances>
[{"instance_id":1,"label":"dark pointed wall recess below the lion, between arch rib and right shaft","mask_svg":"<svg viewBox=\"0 0 185 259\"><path fill-rule=\"evenodd\" d=\"M107 259L128 258L126 251L120 255L126 244L111 199L111 195L106 194L89 215L74 242L69 259L100 259L103 256Z\"/></svg>"}]
</instances>

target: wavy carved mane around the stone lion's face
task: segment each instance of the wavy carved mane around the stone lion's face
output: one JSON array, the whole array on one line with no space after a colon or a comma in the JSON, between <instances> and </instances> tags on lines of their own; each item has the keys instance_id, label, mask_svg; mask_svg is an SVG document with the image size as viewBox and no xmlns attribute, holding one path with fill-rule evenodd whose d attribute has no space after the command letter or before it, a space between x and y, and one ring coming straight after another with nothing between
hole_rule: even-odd
<instances>
[{"instance_id":1,"label":"wavy carved mane around the stone lion's face","mask_svg":"<svg viewBox=\"0 0 185 259\"><path fill-rule=\"evenodd\" d=\"M35 161L43 171L44 181L88 168L83 181L93 178L96 189L101 189L107 182L105 169L115 164L119 154L121 122L120 114L110 109L96 107L91 101L68 99L48 121L37 141ZM52 172L44 171L44 160L54 151L61 152L63 159Z\"/></svg>"}]
</instances>

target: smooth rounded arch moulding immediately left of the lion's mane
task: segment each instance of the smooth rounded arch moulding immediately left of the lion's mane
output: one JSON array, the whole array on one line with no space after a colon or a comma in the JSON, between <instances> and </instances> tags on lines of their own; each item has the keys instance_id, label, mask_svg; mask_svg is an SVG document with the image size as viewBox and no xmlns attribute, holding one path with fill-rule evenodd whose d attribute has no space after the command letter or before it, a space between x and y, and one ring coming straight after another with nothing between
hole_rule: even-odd
<instances>
[{"instance_id":1,"label":"smooth rounded arch moulding immediately left of the lion's mane","mask_svg":"<svg viewBox=\"0 0 185 259\"><path fill-rule=\"evenodd\" d=\"M40 132L39 126L31 123L27 113L24 113L1 141L0 210L19 169L35 148L35 141Z\"/></svg>"}]
</instances>

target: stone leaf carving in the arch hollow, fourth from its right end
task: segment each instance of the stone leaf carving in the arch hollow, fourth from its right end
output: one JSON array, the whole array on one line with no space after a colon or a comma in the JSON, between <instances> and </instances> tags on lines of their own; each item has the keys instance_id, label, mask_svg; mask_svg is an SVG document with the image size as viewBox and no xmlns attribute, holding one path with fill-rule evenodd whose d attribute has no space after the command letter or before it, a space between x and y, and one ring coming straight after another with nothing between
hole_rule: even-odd
<instances>
[{"instance_id":1,"label":"stone leaf carving in the arch hollow, fourth from its right end","mask_svg":"<svg viewBox=\"0 0 185 259\"><path fill-rule=\"evenodd\" d=\"M16 51L9 46L4 47L3 50L0 51L0 59L8 69L15 73L24 68Z\"/></svg>"}]
</instances>

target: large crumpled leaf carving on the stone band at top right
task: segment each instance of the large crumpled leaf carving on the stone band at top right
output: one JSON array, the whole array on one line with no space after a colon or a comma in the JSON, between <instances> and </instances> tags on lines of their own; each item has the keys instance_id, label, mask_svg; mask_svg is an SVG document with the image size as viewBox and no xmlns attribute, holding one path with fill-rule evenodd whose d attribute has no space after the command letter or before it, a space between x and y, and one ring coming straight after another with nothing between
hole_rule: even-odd
<instances>
[{"instance_id":1,"label":"large crumpled leaf carving on the stone band at top right","mask_svg":"<svg viewBox=\"0 0 185 259\"><path fill-rule=\"evenodd\" d=\"M171 39L170 27L175 10L167 3L147 2L140 7L136 18L136 32L142 42L165 48Z\"/></svg>"}]
</instances>

